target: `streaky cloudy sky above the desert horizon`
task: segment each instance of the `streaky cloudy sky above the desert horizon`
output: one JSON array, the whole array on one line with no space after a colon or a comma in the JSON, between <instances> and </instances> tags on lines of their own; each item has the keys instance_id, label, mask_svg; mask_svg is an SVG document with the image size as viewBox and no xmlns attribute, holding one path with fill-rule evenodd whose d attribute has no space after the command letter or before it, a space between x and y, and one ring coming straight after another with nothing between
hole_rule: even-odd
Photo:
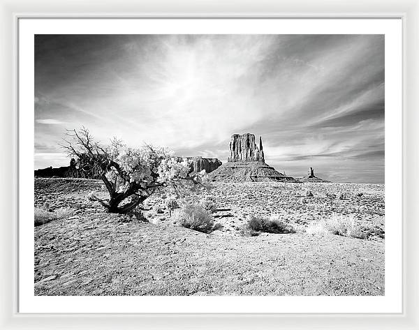
<instances>
[{"instance_id":1,"label":"streaky cloudy sky above the desert horizon","mask_svg":"<svg viewBox=\"0 0 419 330\"><path fill-rule=\"evenodd\" d=\"M34 107L36 169L85 126L223 163L253 133L279 172L384 183L381 35L36 35Z\"/></svg>"}]
</instances>

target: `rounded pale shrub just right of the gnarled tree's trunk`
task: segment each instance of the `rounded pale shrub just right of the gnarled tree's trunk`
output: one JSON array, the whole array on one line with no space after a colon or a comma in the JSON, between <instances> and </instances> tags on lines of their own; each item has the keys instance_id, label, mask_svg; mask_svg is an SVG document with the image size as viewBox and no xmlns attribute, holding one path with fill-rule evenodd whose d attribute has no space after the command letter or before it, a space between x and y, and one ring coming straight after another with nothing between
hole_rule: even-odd
<instances>
[{"instance_id":1,"label":"rounded pale shrub just right of the gnarled tree's trunk","mask_svg":"<svg viewBox=\"0 0 419 330\"><path fill-rule=\"evenodd\" d=\"M214 218L199 204L185 204L175 213L176 223L198 232L212 232Z\"/></svg>"}]
</instances>

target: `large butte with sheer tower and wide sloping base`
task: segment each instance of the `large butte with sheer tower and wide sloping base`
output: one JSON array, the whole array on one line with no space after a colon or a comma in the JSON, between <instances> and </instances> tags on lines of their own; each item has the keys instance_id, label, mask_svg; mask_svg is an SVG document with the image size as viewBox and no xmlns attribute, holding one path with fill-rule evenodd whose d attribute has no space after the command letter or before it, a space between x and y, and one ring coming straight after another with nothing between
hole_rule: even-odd
<instances>
[{"instance_id":1,"label":"large butte with sheer tower and wide sloping base","mask_svg":"<svg viewBox=\"0 0 419 330\"><path fill-rule=\"evenodd\" d=\"M212 181L298 182L293 177L287 177L265 163L262 137L259 138L259 146L257 146L254 134L233 134L231 135L229 149L228 162L210 174Z\"/></svg>"}]
</instances>

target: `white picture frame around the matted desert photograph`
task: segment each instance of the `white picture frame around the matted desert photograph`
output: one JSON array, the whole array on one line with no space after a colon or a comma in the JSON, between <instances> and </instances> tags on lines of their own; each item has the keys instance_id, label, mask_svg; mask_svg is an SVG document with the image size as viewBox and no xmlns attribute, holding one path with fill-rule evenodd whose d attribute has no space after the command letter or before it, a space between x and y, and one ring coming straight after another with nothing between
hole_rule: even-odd
<instances>
[{"instance_id":1,"label":"white picture frame around the matted desert photograph","mask_svg":"<svg viewBox=\"0 0 419 330\"><path fill-rule=\"evenodd\" d=\"M418 150L416 141L416 123L418 115L415 109L418 104L418 22L419 5L417 1L373 1L362 3L328 3L327 1L269 1L263 5L258 3L223 3L219 7L214 4L169 3L161 1L118 1L116 8L113 3L83 4L78 1L60 1L59 4L37 3L34 1L1 1L1 64L3 73L1 79L1 100L3 101L2 132L3 149L6 159L3 162L2 175L4 188L2 190L3 215L1 283L3 286L1 322L3 329L57 329L66 324L75 329L114 329L126 327L142 327L145 329L418 329L419 320L416 310L418 306L418 260L415 252L418 243L415 239L418 225L414 219L419 215L416 200L416 168L418 168ZM346 6L343 6L345 4ZM120 8L120 9L119 9ZM165 8L164 13L160 8ZM128 14L127 14L128 13ZM404 55L403 55L403 115L404 115L404 172L403 172L403 231L404 231L404 306L402 314L129 314L129 315L50 315L17 313L17 75L16 75L16 36L17 20L20 17L399 17L403 21ZM4 158L3 158L4 159ZM12 175L10 175L12 174Z\"/></svg>"}]
</instances>

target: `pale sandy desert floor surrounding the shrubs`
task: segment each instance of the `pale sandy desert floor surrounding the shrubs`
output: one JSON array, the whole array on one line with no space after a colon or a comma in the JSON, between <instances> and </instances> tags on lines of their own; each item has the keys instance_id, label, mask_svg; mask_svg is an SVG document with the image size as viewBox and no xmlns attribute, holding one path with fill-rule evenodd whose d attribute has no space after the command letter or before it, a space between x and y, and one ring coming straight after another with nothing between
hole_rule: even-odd
<instances>
[{"instance_id":1,"label":"pale sandy desert floor surrounding the shrubs","mask_svg":"<svg viewBox=\"0 0 419 330\"><path fill-rule=\"evenodd\" d=\"M304 197L307 190L314 196ZM149 222L124 222L87 200L91 191L105 196L101 181L35 179L36 207L75 210L34 228L36 295L384 294L383 235L304 232L332 214L351 214L383 232L383 185L216 183L186 197L216 197L222 211L214 217L223 227L210 234L174 225L163 205L163 213L154 211L155 198ZM277 216L297 233L242 237L249 216Z\"/></svg>"}]
</instances>

